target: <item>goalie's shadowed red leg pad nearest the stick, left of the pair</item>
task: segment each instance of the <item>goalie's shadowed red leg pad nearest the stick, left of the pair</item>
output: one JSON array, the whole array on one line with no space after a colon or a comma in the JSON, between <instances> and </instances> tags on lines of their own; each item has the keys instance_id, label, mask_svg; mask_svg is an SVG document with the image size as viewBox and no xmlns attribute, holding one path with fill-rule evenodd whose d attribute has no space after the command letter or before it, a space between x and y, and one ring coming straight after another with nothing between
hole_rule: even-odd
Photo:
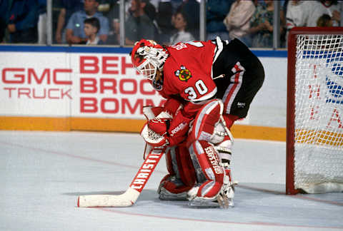
<instances>
[{"instance_id":1,"label":"goalie's shadowed red leg pad nearest the stick, left of the pair","mask_svg":"<svg viewBox=\"0 0 343 231\"><path fill-rule=\"evenodd\" d=\"M196 181L195 170L186 147L172 147L166 153L166 168L169 174L159 185L161 200L185 200L187 192Z\"/></svg>"}]
</instances>

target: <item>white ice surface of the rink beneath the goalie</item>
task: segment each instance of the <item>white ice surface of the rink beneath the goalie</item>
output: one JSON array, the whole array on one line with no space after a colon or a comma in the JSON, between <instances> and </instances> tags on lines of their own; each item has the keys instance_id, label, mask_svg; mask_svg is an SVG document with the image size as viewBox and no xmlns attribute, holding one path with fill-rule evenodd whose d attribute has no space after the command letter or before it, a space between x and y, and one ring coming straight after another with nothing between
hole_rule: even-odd
<instances>
[{"instance_id":1,"label":"white ice surface of the rink beneath the goalie","mask_svg":"<svg viewBox=\"0 0 343 231\"><path fill-rule=\"evenodd\" d=\"M164 158L131 207L79 208L119 194L143 162L138 134L0 131L0 230L343 230L343 193L284 195L285 143L237 139L235 207L160 201Z\"/></svg>"}]
</instances>

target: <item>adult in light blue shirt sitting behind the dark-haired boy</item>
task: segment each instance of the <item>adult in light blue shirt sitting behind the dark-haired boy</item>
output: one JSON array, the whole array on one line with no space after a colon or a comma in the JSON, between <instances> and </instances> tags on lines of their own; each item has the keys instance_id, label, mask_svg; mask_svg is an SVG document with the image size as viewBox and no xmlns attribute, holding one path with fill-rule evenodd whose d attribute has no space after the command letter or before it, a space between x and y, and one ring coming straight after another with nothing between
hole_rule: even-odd
<instances>
[{"instance_id":1,"label":"adult in light blue shirt sitting behind the dark-haired boy","mask_svg":"<svg viewBox=\"0 0 343 231\"><path fill-rule=\"evenodd\" d=\"M66 25L66 41L69 44L81 44L87 41L84 34L84 19L95 17L99 19L99 38L106 42L109 34L109 21L97 11L99 2L97 0L84 0L84 11L77 11L71 15Z\"/></svg>"}]
</instances>

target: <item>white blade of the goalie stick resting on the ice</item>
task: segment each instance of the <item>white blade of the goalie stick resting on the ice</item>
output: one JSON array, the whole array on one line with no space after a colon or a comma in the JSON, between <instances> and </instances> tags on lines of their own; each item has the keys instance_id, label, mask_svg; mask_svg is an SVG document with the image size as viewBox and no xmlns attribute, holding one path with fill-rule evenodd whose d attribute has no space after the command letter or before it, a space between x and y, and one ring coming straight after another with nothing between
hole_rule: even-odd
<instances>
[{"instance_id":1,"label":"white blade of the goalie stick resting on the ice","mask_svg":"<svg viewBox=\"0 0 343 231\"><path fill-rule=\"evenodd\" d=\"M129 207L134 205L139 192L128 188L121 195L80 195L77 199L77 207Z\"/></svg>"}]
</instances>

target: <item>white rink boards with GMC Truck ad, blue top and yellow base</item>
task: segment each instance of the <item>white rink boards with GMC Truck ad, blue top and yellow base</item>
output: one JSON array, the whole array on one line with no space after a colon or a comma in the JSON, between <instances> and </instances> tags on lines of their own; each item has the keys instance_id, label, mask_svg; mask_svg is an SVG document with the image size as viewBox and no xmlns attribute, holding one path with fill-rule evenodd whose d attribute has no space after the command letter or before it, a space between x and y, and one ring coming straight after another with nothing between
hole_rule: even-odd
<instances>
[{"instance_id":1,"label":"white rink boards with GMC Truck ad, blue top and yellow base","mask_svg":"<svg viewBox=\"0 0 343 231\"><path fill-rule=\"evenodd\" d=\"M0 46L1 130L139 132L164 103L132 68L131 48ZM266 78L236 138L286 140L287 51L254 51Z\"/></svg>"}]
</instances>

